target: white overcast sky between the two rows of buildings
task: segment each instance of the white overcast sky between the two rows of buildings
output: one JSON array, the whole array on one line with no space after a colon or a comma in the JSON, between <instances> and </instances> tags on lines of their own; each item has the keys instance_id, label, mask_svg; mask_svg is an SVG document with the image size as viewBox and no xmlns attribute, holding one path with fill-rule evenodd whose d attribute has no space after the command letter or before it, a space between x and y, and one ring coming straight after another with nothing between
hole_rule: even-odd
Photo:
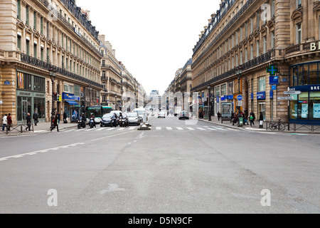
<instances>
[{"instance_id":1,"label":"white overcast sky between the two rows of buildings","mask_svg":"<svg viewBox=\"0 0 320 228\"><path fill-rule=\"evenodd\" d=\"M193 48L220 0L77 0L105 34L116 58L149 95L162 95Z\"/></svg>"}]
</instances>

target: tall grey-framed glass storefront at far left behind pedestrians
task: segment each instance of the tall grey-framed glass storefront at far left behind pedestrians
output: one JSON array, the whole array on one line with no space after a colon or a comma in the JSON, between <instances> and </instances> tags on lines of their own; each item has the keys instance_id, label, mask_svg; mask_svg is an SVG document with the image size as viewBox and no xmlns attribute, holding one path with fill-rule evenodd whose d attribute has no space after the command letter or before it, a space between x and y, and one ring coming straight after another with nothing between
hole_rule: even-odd
<instances>
[{"instance_id":1,"label":"tall grey-framed glass storefront at far left behind pedestrians","mask_svg":"<svg viewBox=\"0 0 320 228\"><path fill-rule=\"evenodd\" d=\"M46 121L46 78L17 72L16 120L26 123L26 116L38 113L38 120Z\"/></svg>"}]
</instances>

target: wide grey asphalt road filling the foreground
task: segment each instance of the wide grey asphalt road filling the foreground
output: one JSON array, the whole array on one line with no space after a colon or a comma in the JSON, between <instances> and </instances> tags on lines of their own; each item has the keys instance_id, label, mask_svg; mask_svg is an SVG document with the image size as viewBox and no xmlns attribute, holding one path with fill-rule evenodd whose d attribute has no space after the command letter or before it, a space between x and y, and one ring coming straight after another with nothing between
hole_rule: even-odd
<instances>
[{"instance_id":1,"label":"wide grey asphalt road filling the foreground","mask_svg":"<svg viewBox=\"0 0 320 228\"><path fill-rule=\"evenodd\" d=\"M0 213L320 212L319 135L149 123L0 138Z\"/></svg>"}]
</instances>

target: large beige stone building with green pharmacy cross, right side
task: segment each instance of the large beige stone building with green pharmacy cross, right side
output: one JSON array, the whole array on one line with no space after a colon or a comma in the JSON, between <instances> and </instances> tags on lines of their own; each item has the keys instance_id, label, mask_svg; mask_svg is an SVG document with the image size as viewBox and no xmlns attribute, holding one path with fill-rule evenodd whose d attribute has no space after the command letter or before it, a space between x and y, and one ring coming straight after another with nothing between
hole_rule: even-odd
<instances>
[{"instance_id":1,"label":"large beige stone building with green pharmacy cross, right side","mask_svg":"<svg viewBox=\"0 0 320 228\"><path fill-rule=\"evenodd\" d=\"M310 51L319 40L318 8L313 0L221 1L193 49L192 91L203 97L210 88L213 115L247 109L265 120L292 119L278 98L292 86L292 64L319 60L319 50Z\"/></svg>"}]
</instances>

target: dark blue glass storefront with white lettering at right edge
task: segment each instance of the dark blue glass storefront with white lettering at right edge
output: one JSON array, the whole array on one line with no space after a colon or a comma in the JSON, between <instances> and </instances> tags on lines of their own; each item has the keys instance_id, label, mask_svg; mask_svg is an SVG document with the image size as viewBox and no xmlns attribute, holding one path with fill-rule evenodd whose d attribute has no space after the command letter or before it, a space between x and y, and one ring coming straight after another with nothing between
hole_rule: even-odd
<instances>
[{"instance_id":1,"label":"dark blue glass storefront with white lettering at right edge","mask_svg":"<svg viewBox=\"0 0 320 228\"><path fill-rule=\"evenodd\" d=\"M320 61L290 67L289 120L320 124Z\"/></svg>"}]
</instances>

